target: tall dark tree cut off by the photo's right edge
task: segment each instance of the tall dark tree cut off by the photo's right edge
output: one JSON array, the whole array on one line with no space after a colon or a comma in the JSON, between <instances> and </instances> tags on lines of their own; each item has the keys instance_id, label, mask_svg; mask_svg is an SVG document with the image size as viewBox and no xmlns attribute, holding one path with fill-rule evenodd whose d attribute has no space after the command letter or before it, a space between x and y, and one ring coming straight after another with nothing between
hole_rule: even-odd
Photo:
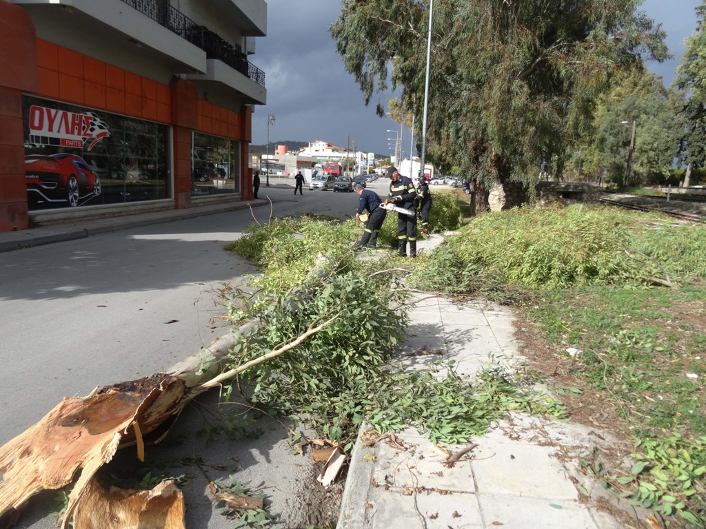
<instances>
[{"instance_id":1,"label":"tall dark tree cut off by the photo's right edge","mask_svg":"<svg viewBox=\"0 0 706 529\"><path fill-rule=\"evenodd\" d=\"M686 125L680 152L688 167L685 186L690 170L704 166L706 160L706 0L696 8L696 16L696 31L686 39L686 51L674 80L688 97L682 113Z\"/></svg>"}]
</instances>

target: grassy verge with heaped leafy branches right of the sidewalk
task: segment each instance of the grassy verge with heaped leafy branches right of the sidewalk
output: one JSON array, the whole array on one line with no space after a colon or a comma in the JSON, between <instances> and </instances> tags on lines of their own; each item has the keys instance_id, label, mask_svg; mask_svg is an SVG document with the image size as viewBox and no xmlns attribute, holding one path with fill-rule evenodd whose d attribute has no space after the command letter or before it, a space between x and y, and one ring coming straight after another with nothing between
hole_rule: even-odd
<instances>
[{"instance_id":1,"label":"grassy verge with heaped leafy branches right of the sidewalk","mask_svg":"<svg viewBox=\"0 0 706 529\"><path fill-rule=\"evenodd\" d=\"M513 303L544 349L532 358L530 347L530 365L568 411L592 396L588 423L630 436L629 472L611 469L611 454L593 454L588 472L706 525L706 226L585 205L514 209L473 219L416 264L419 288Z\"/></svg>"}]
</instances>

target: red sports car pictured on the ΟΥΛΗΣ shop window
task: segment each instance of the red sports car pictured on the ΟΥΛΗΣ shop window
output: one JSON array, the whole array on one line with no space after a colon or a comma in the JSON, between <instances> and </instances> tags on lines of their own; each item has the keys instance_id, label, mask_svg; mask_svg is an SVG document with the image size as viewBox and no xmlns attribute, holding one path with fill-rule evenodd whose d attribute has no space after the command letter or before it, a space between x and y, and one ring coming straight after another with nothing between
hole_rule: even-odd
<instances>
[{"instance_id":1,"label":"red sports car pictured on the \u039f\u03a5\u039b\u0397\u03a3 shop window","mask_svg":"<svg viewBox=\"0 0 706 529\"><path fill-rule=\"evenodd\" d=\"M67 202L76 207L100 195L100 178L76 154L30 154L25 157L27 193L37 202Z\"/></svg>"}]
</instances>

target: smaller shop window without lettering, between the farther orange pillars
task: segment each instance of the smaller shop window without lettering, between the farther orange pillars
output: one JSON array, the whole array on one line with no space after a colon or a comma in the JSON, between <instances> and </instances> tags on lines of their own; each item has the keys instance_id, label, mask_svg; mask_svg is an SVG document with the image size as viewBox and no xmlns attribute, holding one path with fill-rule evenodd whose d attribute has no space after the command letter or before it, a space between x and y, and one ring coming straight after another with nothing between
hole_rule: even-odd
<instances>
[{"instance_id":1,"label":"smaller shop window without lettering, between the farther orange pillars","mask_svg":"<svg viewBox=\"0 0 706 529\"><path fill-rule=\"evenodd\" d=\"M240 143L193 133L191 196L240 192Z\"/></svg>"}]
</instances>

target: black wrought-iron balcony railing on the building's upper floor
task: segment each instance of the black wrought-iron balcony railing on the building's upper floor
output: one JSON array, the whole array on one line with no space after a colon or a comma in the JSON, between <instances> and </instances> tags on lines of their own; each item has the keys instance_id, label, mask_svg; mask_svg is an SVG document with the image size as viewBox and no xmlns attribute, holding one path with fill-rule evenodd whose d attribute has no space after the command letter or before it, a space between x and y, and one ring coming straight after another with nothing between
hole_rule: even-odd
<instances>
[{"instance_id":1,"label":"black wrought-iron balcony railing on the building's upper floor","mask_svg":"<svg viewBox=\"0 0 706 529\"><path fill-rule=\"evenodd\" d=\"M168 0L122 0L128 6L168 30L176 33L179 37L188 40L191 44L203 49L208 59L219 59L231 68L246 75L258 85L265 86L265 72L248 61L244 54L238 51L232 44L225 42L217 33L209 30L203 25L198 25L188 16L172 7Z\"/></svg>"}]
</instances>

